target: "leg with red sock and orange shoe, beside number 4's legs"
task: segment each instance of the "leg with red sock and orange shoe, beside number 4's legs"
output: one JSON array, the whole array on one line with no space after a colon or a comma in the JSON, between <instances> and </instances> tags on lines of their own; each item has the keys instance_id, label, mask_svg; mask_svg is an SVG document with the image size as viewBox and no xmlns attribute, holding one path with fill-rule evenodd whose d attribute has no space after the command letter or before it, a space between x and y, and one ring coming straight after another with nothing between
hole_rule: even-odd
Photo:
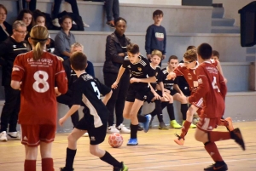
<instances>
[{"instance_id":1,"label":"leg with red sock and orange shoe, beside number 4's legs","mask_svg":"<svg viewBox=\"0 0 256 171\"><path fill-rule=\"evenodd\" d=\"M191 125L190 121L192 121L193 114L197 110L198 110L198 107L196 107L195 105L190 105L189 110L187 111L187 120L183 124L182 133L180 135L177 135L177 139L174 140L174 142L176 142L177 145L183 145L184 144L185 135L188 133L188 130L189 130L190 125Z\"/></svg>"}]
</instances>

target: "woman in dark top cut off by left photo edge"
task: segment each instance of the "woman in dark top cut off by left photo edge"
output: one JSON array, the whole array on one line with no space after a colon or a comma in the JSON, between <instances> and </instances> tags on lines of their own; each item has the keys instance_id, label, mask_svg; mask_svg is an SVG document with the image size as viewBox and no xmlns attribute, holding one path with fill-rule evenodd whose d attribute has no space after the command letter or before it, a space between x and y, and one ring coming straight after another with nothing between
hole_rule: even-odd
<instances>
[{"instance_id":1,"label":"woman in dark top cut off by left photo edge","mask_svg":"<svg viewBox=\"0 0 256 171\"><path fill-rule=\"evenodd\" d=\"M3 4L0 4L0 43L6 40L13 33L12 26L5 21L6 15L7 9L3 6Z\"/></svg>"}]
</instances>

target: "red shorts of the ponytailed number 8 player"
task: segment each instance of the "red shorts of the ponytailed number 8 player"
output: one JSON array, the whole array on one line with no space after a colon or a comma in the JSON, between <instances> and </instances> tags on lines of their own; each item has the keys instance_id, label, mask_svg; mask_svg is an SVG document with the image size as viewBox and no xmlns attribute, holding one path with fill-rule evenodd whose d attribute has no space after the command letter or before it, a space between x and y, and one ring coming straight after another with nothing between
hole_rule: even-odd
<instances>
[{"instance_id":1,"label":"red shorts of the ponytailed number 8 player","mask_svg":"<svg viewBox=\"0 0 256 171\"><path fill-rule=\"evenodd\" d=\"M55 140L56 125L20 125L21 144L38 146L40 142L50 143Z\"/></svg>"}]
</instances>

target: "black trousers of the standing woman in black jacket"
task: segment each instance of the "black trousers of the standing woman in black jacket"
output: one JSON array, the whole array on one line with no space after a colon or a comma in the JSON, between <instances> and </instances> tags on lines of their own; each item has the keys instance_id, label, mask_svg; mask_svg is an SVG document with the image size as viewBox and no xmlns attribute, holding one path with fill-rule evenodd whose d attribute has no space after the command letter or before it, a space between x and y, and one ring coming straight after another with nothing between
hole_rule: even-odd
<instances>
[{"instance_id":1,"label":"black trousers of the standing woman in black jacket","mask_svg":"<svg viewBox=\"0 0 256 171\"><path fill-rule=\"evenodd\" d=\"M105 84L111 88L111 85L115 82L117 74L103 73ZM130 84L129 73L125 72L120 79L119 86L116 89L112 89L113 94L108 100L107 108L110 111L108 117L108 126L113 125L113 111L115 109L116 126L119 126L124 121L123 110L125 107L125 98L127 90Z\"/></svg>"}]
</instances>

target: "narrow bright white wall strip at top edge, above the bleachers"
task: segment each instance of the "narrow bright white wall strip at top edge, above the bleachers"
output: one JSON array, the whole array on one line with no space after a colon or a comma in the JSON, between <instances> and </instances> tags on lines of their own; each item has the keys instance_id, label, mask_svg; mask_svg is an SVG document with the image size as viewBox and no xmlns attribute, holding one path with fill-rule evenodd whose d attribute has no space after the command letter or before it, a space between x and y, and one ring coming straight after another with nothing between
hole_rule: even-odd
<instances>
[{"instance_id":1,"label":"narrow bright white wall strip at top edge, above the bleachers","mask_svg":"<svg viewBox=\"0 0 256 171\"><path fill-rule=\"evenodd\" d=\"M181 5L182 0L119 0L119 3L139 3L156 5Z\"/></svg>"}]
</instances>

